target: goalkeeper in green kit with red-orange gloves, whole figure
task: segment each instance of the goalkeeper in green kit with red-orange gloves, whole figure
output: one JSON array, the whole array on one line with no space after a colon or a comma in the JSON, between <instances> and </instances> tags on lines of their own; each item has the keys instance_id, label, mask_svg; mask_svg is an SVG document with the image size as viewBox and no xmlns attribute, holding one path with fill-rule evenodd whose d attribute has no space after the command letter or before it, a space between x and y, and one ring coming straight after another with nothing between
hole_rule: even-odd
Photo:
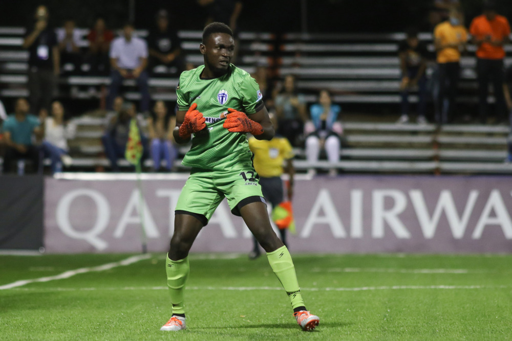
<instances>
[{"instance_id":1,"label":"goalkeeper in green kit with red-orange gloves, whole figure","mask_svg":"<svg viewBox=\"0 0 512 341\"><path fill-rule=\"evenodd\" d=\"M191 167L175 211L175 230L166 260L167 286L173 315L161 330L186 328L183 294L189 274L188 252L224 197L234 215L242 216L267 252L268 262L283 285L295 319L314 329L318 316L306 310L288 249L273 232L246 134L270 140L274 129L256 81L232 65L231 29L212 22L203 31L199 51L204 65L180 76L176 142L192 146L182 164Z\"/></svg>"}]
</instances>

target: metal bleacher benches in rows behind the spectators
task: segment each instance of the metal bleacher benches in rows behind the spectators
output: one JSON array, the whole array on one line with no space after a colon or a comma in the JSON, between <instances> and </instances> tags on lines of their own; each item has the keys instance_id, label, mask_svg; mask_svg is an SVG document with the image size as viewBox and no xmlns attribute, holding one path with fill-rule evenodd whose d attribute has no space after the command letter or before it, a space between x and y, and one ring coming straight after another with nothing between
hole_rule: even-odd
<instances>
[{"instance_id":1,"label":"metal bleacher benches in rows behind the spectators","mask_svg":"<svg viewBox=\"0 0 512 341\"><path fill-rule=\"evenodd\" d=\"M88 30L81 29L82 47L87 46L85 36ZM27 51L22 50L25 29L0 27L0 97L15 98L28 96L27 90ZM140 36L147 31L139 30ZM180 31L182 48L186 61L195 65L202 63L198 53L201 40L200 31ZM429 43L433 51L432 35L420 34L420 39ZM305 93L308 103L317 99L319 89L332 90L334 102L343 104L387 105L398 117L398 94L400 83L398 42L402 33L394 34L295 34L276 37L271 33L242 32L241 58L238 66L253 72L255 66L271 67L276 74L298 76L297 87ZM461 95L459 102L476 103L477 83L474 71L474 48L468 48L470 55L462 58ZM508 52L512 46L507 46ZM276 57L277 56L277 57ZM512 58L505 60L512 64ZM109 77L87 75L60 78L62 96L70 100L98 100L105 96ZM149 81L154 100L176 101L177 77L151 78ZM126 99L137 101L135 81L125 80L128 89ZM91 88L93 89L91 91ZM417 97L411 96L411 102ZM492 102L493 98L490 96ZM344 142L342 159L336 167L344 172L383 172L383 173L512 173L512 166L504 164L507 126L484 125L445 125L433 124L393 124L361 122L357 115L344 120ZM74 118L78 126L76 138L70 141L74 157L72 169L100 170L108 167L102 155L100 137L103 130L101 112L84 113ZM180 149L181 156L188 147ZM305 171L311 167L304 151L295 150L296 168ZM127 163L120 162L121 166ZM151 167L151 161L145 163ZM329 169L332 165L319 161L314 165L319 169ZM178 169L183 169L176 163Z\"/></svg>"}]
</instances>

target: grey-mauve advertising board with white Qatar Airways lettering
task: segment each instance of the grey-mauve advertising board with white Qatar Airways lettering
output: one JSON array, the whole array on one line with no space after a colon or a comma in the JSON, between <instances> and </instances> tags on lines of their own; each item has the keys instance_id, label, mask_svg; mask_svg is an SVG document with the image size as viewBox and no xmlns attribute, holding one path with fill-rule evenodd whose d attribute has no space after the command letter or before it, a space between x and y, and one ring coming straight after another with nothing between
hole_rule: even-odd
<instances>
[{"instance_id":1,"label":"grey-mauve advertising board with white Qatar Airways lettering","mask_svg":"<svg viewBox=\"0 0 512 341\"><path fill-rule=\"evenodd\" d=\"M48 178L46 250L139 252L145 238L148 251L165 252L184 183ZM294 253L512 252L509 176L298 178L293 210ZM191 252L249 252L251 245L249 230L224 200Z\"/></svg>"}]
</instances>

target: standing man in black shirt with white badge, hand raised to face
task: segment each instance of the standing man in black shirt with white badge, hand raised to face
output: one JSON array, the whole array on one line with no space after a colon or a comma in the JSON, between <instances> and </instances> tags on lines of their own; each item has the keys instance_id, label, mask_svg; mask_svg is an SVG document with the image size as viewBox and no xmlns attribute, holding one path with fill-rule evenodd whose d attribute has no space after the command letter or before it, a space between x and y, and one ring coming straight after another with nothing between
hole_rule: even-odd
<instances>
[{"instance_id":1,"label":"standing man in black shirt with white badge, hand raised to face","mask_svg":"<svg viewBox=\"0 0 512 341\"><path fill-rule=\"evenodd\" d=\"M28 84L30 104L34 112L39 109L50 109L56 80L60 73L60 55L57 37L52 28L48 27L48 9L38 6L34 18L34 27L27 28L23 40L23 48L29 50Z\"/></svg>"}]
</instances>

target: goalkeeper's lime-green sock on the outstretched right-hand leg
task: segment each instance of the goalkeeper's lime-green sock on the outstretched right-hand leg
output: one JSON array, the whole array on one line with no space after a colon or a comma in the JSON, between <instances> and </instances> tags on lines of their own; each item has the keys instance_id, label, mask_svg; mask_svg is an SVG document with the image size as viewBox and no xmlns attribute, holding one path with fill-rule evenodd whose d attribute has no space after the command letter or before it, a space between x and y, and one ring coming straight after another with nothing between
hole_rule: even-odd
<instances>
[{"instance_id":1,"label":"goalkeeper's lime-green sock on the outstretched right-hand leg","mask_svg":"<svg viewBox=\"0 0 512 341\"><path fill-rule=\"evenodd\" d=\"M267 253L268 262L290 298L292 308L304 306L295 267L286 246Z\"/></svg>"}]
</instances>

